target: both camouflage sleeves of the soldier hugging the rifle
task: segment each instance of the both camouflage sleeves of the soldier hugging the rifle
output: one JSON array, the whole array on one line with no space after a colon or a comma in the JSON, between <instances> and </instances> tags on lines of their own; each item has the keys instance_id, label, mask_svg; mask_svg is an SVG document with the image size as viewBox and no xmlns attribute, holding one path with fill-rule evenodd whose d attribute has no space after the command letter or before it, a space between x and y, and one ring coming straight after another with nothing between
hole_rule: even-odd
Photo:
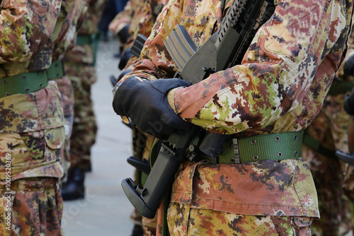
<instances>
[{"instance_id":1,"label":"both camouflage sleeves of the soldier hugging the rifle","mask_svg":"<svg viewBox=\"0 0 354 236\"><path fill-rule=\"evenodd\" d=\"M176 112L188 122L227 134L304 129L318 114L338 70L351 5L345 0L329 5L280 1L242 64L178 89ZM171 78L176 64L164 47L166 36L180 23L200 47L215 32L220 12L219 1L169 1L133 73L147 79Z\"/></svg>"}]
</instances>

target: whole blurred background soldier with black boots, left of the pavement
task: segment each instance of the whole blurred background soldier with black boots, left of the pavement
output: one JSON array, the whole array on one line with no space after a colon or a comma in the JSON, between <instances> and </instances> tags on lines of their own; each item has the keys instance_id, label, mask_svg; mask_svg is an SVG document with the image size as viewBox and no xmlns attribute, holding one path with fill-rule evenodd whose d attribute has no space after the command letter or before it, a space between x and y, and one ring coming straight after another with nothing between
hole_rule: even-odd
<instances>
[{"instance_id":1,"label":"whole blurred background soldier with black boots, left of the pavement","mask_svg":"<svg viewBox=\"0 0 354 236\"><path fill-rule=\"evenodd\" d=\"M74 88L74 123L70 139L67 181L62 186L65 200L84 198L85 171L91 170L91 147L96 141L97 124L91 100L91 85L96 81L97 23L105 0L89 1L76 46L64 56L64 70Z\"/></svg>"}]
</instances>

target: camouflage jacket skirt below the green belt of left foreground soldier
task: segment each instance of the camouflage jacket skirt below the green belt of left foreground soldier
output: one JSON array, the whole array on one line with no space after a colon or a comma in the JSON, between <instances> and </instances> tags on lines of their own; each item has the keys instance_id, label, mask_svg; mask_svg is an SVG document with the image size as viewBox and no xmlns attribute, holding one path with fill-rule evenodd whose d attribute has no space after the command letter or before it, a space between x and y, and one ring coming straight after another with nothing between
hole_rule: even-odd
<instances>
[{"instance_id":1,"label":"camouflage jacket skirt below the green belt of left foreground soldier","mask_svg":"<svg viewBox=\"0 0 354 236\"><path fill-rule=\"evenodd\" d=\"M54 81L28 95L0 98L0 184L5 185L5 155L10 154L11 180L62 177L64 114Z\"/></svg>"}]
</instances>

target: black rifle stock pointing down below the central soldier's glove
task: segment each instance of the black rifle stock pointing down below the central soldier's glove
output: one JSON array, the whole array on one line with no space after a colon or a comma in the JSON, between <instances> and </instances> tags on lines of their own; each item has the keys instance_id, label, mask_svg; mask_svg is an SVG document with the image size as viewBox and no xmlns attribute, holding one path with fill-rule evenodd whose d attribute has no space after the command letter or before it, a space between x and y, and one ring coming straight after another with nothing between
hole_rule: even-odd
<instances>
[{"instance_id":1,"label":"black rifle stock pointing down below the central soldier's glove","mask_svg":"<svg viewBox=\"0 0 354 236\"><path fill-rule=\"evenodd\" d=\"M122 189L130 203L146 218L154 218L157 208L164 197L166 189L171 186L174 175L185 155L193 158L198 149L193 146L197 126L185 134L174 133L163 141L147 181L137 185L131 178L122 180ZM188 153L186 153L188 151Z\"/></svg>"}]
</instances>

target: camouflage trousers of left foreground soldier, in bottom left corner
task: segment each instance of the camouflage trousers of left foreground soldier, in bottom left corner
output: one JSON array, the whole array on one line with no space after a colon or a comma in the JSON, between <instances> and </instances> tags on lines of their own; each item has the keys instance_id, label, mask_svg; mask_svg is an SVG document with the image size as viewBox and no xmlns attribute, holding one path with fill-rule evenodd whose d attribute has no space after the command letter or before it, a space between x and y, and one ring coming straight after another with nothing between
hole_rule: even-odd
<instances>
[{"instance_id":1,"label":"camouflage trousers of left foreground soldier, in bottom left corner","mask_svg":"<svg viewBox=\"0 0 354 236\"><path fill-rule=\"evenodd\" d=\"M0 185L0 235L61 235L63 201L59 178L33 177Z\"/></svg>"}]
</instances>

